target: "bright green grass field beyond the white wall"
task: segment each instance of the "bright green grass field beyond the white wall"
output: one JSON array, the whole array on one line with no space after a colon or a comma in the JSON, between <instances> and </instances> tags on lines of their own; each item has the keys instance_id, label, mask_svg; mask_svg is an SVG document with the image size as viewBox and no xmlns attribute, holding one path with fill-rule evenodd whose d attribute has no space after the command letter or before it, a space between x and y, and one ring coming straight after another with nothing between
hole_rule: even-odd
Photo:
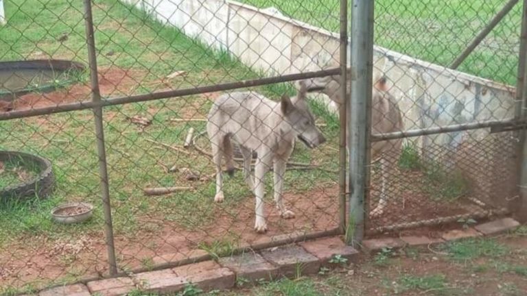
<instances>
[{"instance_id":1,"label":"bright green grass field beyond the white wall","mask_svg":"<svg viewBox=\"0 0 527 296\"><path fill-rule=\"evenodd\" d=\"M339 31L339 1L240 0ZM351 1L349 1L351 5ZM375 45L448 66L504 5L500 0L375 1ZM459 70L515 84L521 5L498 24Z\"/></svg>"}]
</instances>

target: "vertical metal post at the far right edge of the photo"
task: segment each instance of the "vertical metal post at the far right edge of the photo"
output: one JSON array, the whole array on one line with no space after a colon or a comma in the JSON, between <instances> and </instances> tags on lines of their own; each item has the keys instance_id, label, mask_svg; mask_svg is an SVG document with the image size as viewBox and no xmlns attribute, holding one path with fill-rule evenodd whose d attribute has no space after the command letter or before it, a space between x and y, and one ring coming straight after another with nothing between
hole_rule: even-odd
<instances>
[{"instance_id":1,"label":"vertical metal post at the far right edge of the photo","mask_svg":"<svg viewBox=\"0 0 527 296\"><path fill-rule=\"evenodd\" d=\"M516 85L515 119L526 119L527 115L527 0L522 5L522 32L519 43L518 73ZM515 205L517 219L527 221L527 135L520 130L519 138L519 203Z\"/></svg>"}]
</instances>

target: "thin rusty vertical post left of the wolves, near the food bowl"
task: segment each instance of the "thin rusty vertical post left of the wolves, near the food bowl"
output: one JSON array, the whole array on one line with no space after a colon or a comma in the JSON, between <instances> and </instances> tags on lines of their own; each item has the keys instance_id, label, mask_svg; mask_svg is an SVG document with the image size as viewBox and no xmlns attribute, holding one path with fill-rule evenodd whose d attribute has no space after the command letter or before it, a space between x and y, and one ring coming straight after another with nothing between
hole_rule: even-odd
<instances>
[{"instance_id":1,"label":"thin rusty vertical post left of the wolves, near the food bowl","mask_svg":"<svg viewBox=\"0 0 527 296\"><path fill-rule=\"evenodd\" d=\"M90 64L91 96L93 101L100 101L99 79L97 78L97 53L95 51L95 36L93 34L93 17L91 14L91 0L84 0L84 21L86 25L86 45ZM108 264L110 275L117 274L115 247L113 239L112 209L110 206L110 191L108 189L108 171L106 169L106 150L104 147L104 127L102 123L102 107L93 108L95 115L95 134L97 136L97 154L99 156L99 177L101 179L102 206L104 208L104 232L108 249Z\"/></svg>"}]
</instances>

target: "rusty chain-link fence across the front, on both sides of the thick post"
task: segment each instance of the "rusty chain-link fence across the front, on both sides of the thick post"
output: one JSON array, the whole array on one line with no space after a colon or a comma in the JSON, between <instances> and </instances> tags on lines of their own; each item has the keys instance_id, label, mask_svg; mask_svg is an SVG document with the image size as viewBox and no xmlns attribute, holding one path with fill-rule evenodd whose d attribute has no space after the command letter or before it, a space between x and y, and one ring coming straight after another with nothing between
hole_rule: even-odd
<instances>
[{"instance_id":1,"label":"rusty chain-link fence across the front, on both sides of the thick post","mask_svg":"<svg viewBox=\"0 0 527 296\"><path fill-rule=\"evenodd\" d=\"M353 232L339 114L357 74L339 75L351 4L242 2L4 1L2 293ZM443 67L501 2L375 2L366 235L517 200L517 134L494 127L516 115L521 5L460 72ZM93 217L56 223L65 203Z\"/></svg>"}]
</instances>

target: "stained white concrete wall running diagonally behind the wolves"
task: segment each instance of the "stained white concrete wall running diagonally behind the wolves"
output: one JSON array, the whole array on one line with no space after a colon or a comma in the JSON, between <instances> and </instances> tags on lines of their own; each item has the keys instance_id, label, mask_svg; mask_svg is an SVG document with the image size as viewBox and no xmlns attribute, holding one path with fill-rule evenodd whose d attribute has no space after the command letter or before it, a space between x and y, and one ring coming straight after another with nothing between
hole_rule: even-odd
<instances>
[{"instance_id":1,"label":"stained white concrete wall running diagonally behind the wolves","mask_svg":"<svg viewBox=\"0 0 527 296\"><path fill-rule=\"evenodd\" d=\"M121 0L148 11L217 49L226 49L244 64L269 75L298 73L337 64L338 34L276 10L259 10L230 0ZM348 52L349 54L349 52ZM408 130L455 123L508 119L513 116L514 88L446 69L382 47L374 49L399 100ZM334 108L334 105L329 103ZM421 145L457 146L484 130L421 137Z\"/></svg>"}]
</instances>

